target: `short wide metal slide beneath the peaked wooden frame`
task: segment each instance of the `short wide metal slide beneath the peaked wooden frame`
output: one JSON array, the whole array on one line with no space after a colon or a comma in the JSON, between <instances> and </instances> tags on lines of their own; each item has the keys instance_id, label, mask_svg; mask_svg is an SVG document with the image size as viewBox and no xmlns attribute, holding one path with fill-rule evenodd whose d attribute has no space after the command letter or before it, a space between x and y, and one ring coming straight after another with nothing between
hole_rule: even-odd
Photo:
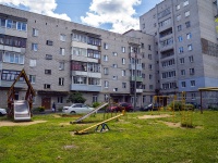
<instances>
[{"instance_id":1,"label":"short wide metal slide beneath the peaked wooden frame","mask_svg":"<svg viewBox=\"0 0 218 163\"><path fill-rule=\"evenodd\" d=\"M14 121L31 121L28 101L14 100Z\"/></svg>"}]
</instances>

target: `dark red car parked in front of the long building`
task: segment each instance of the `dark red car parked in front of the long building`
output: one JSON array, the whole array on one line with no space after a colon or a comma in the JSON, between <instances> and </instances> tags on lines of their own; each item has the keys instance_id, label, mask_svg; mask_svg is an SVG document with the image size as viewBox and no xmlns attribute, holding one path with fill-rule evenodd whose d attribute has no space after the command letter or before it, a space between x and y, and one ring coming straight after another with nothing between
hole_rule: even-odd
<instances>
[{"instance_id":1,"label":"dark red car parked in front of the long building","mask_svg":"<svg viewBox=\"0 0 218 163\"><path fill-rule=\"evenodd\" d=\"M119 102L118 104L111 104L108 106L108 112L122 112L122 110L125 110L126 112L132 112L133 106L131 103L128 102Z\"/></svg>"}]
</instances>

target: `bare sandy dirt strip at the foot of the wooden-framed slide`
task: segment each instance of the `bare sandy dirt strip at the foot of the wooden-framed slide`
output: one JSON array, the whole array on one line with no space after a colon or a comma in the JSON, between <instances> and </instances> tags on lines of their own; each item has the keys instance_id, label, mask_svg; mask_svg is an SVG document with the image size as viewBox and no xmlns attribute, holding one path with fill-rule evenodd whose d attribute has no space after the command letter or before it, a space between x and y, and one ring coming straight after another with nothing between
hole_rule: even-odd
<instances>
[{"instance_id":1,"label":"bare sandy dirt strip at the foot of the wooden-framed slide","mask_svg":"<svg viewBox=\"0 0 218 163\"><path fill-rule=\"evenodd\" d=\"M11 122L11 121L0 121L0 127L3 126L28 126L39 123L46 123L47 121L33 121L33 122Z\"/></svg>"}]
</instances>

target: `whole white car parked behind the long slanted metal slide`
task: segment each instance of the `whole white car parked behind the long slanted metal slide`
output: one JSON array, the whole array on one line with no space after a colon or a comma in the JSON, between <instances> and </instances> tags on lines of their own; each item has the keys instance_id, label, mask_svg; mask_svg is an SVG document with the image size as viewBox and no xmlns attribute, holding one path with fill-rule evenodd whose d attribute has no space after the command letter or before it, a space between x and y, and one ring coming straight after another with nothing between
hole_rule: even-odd
<instances>
[{"instance_id":1,"label":"whole white car parked behind the long slanted metal slide","mask_svg":"<svg viewBox=\"0 0 218 163\"><path fill-rule=\"evenodd\" d=\"M68 114L81 114L81 113L88 113L93 111L94 108L89 108L86 104L83 103L73 103L71 106L63 106L62 112Z\"/></svg>"}]
</instances>

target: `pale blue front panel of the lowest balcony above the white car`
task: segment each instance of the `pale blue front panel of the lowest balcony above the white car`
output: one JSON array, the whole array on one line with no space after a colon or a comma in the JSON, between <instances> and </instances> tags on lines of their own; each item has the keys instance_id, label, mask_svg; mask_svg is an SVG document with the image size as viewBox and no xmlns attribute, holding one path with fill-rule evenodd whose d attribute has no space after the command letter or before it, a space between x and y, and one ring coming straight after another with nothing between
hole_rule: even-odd
<instances>
[{"instance_id":1,"label":"pale blue front panel of the lowest balcony above the white car","mask_svg":"<svg viewBox=\"0 0 218 163\"><path fill-rule=\"evenodd\" d=\"M101 86L95 86L95 85L71 85L71 90L75 91L101 91Z\"/></svg>"}]
</instances>

